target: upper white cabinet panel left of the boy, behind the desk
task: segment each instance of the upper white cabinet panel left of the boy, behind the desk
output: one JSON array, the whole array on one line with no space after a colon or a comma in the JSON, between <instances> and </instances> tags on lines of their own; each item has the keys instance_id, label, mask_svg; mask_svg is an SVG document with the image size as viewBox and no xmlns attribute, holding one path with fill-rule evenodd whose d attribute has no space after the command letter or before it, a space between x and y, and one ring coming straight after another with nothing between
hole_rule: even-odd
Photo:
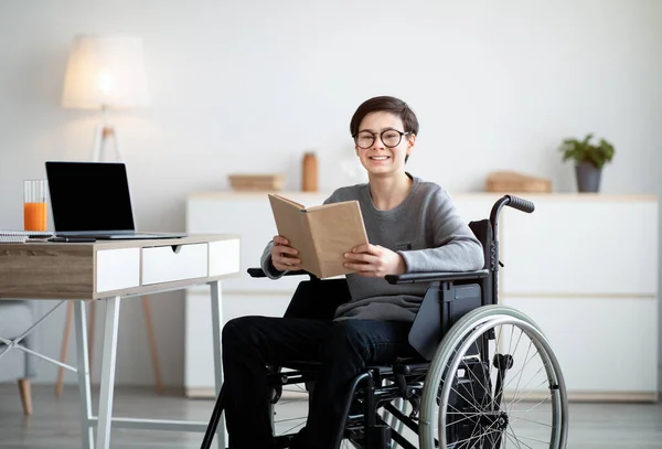
<instances>
[{"instance_id":1,"label":"upper white cabinet panel left of the boy, behind the desk","mask_svg":"<svg viewBox=\"0 0 662 449\"><path fill-rule=\"evenodd\" d=\"M319 205L327 195L287 194L288 199L306 206ZM242 239L242 268L237 278L223 282L228 291L280 293L292 292L303 280L301 277L285 277L274 282L270 279L254 279L246 270L259 267L265 246L277 234L274 214L267 194L237 194L223 197L194 196L189 199L186 211L189 233L237 234Z\"/></svg>"}]
</instances>

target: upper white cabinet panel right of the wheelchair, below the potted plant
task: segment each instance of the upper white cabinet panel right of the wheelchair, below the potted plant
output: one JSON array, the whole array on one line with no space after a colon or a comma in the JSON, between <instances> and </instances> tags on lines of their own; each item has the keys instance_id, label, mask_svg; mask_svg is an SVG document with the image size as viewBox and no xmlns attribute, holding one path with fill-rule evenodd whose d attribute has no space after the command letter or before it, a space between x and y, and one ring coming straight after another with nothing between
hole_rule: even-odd
<instances>
[{"instance_id":1,"label":"upper white cabinet panel right of the wheelchair, below the potted plant","mask_svg":"<svg viewBox=\"0 0 662 449\"><path fill-rule=\"evenodd\" d=\"M504 295L656 295L655 202L540 200L501 231Z\"/></svg>"}]
</instances>

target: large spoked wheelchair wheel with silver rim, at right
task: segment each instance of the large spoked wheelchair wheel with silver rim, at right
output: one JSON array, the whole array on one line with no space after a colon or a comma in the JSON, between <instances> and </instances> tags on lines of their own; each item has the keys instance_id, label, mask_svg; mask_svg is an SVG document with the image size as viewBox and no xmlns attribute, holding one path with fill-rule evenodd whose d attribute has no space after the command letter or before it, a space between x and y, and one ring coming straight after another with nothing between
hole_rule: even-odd
<instances>
[{"instance_id":1,"label":"large spoked wheelchair wheel with silver rim, at right","mask_svg":"<svg viewBox=\"0 0 662 449\"><path fill-rule=\"evenodd\" d=\"M426 375L421 449L564 449L566 388L538 327L505 306L484 306L448 331Z\"/></svg>"}]
</instances>

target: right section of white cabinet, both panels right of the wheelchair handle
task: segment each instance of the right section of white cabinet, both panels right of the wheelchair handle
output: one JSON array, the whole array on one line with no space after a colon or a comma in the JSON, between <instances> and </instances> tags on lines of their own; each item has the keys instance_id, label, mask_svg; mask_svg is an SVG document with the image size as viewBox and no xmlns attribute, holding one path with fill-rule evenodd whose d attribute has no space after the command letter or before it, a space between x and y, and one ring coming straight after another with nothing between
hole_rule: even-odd
<instances>
[{"instance_id":1,"label":"right section of white cabinet, both panels right of the wheelchair handle","mask_svg":"<svg viewBox=\"0 0 662 449\"><path fill-rule=\"evenodd\" d=\"M656 200L533 201L533 214L501 221L500 301L541 327L570 398L656 399Z\"/></svg>"}]
</instances>

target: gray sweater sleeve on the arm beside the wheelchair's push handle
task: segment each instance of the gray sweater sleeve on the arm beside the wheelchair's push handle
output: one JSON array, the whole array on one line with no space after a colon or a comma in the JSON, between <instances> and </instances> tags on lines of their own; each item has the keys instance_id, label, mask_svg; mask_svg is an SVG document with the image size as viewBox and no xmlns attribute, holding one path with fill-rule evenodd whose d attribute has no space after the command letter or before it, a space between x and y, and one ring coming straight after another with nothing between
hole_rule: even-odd
<instances>
[{"instance_id":1,"label":"gray sweater sleeve on the arm beside the wheelchair's push handle","mask_svg":"<svg viewBox=\"0 0 662 449\"><path fill-rule=\"evenodd\" d=\"M421 204L426 239L433 245L424 249L398 250L407 272L471 271L484 265L482 245L460 218L452 200L444 189L430 192Z\"/></svg>"}]
</instances>

